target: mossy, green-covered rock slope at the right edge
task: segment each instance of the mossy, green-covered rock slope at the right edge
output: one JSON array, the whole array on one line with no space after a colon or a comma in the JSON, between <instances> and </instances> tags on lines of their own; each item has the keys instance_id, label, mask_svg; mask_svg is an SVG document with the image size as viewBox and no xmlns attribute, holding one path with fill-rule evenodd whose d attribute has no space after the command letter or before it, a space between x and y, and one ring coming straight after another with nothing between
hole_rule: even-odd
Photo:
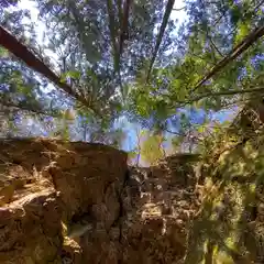
<instances>
[{"instance_id":1,"label":"mossy, green-covered rock slope at the right edge","mask_svg":"<svg viewBox=\"0 0 264 264\"><path fill-rule=\"evenodd\" d=\"M189 234L186 263L208 257L208 244L216 248L215 255L210 253L213 260L250 263L261 257L258 237L263 231L260 234L251 224L262 218L262 212L256 209L255 216L253 208L258 207L263 196L263 129L251 127L249 131L246 125L245 130L245 117L242 113L238 124L212 132L212 144L202 158L206 184L201 212Z\"/></svg>"}]
</instances>

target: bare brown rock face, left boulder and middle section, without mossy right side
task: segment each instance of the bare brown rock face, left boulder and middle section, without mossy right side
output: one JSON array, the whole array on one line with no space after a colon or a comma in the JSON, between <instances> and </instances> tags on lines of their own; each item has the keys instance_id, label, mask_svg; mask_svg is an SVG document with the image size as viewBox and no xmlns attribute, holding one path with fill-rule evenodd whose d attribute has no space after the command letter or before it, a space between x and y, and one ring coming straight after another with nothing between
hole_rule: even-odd
<instances>
[{"instance_id":1,"label":"bare brown rock face, left boulder and middle section, without mossy right side","mask_svg":"<svg viewBox=\"0 0 264 264\"><path fill-rule=\"evenodd\" d=\"M199 207L182 160L136 169L100 144L1 141L0 263L180 263Z\"/></svg>"}]
</instances>

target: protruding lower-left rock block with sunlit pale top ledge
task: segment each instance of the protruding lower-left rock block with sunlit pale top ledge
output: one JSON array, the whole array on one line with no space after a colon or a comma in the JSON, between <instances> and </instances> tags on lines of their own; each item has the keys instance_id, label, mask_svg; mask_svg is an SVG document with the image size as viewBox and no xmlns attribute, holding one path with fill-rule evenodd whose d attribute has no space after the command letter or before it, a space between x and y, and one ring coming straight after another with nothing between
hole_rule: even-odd
<instances>
[{"instance_id":1,"label":"protruding lower-left rock block with sunlit pale top ledge","mask_svg":"<svg viewBox=\"0 0 264 264\"><path fill-rule=\"evenodd\" d=\"M54 189L0 208L0 263L56 263L63 245L61 211Z\"/></svg>"}]
</instances>

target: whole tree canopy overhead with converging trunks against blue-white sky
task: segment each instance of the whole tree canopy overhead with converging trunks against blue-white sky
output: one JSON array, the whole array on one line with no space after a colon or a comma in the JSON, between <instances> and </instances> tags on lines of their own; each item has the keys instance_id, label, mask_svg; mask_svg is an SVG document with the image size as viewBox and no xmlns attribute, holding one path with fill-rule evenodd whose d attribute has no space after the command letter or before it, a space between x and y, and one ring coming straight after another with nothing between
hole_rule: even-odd
<instances>
[{"instance_id":1,"label":"whole tree canopy overhead with converging trunks against blue-white sky","mask_svg":"<svg viewBox=\"0 0 264 264\"><path fill-rule=\"evenodd\" d=\"M48 134L72 109L69 138L120 145L125 119L193 151L213 113L263 96L264 2L175 2L32 0L35 22L22 1L4 1L2 133L30 118Z\"/></svg>"}]
</instances>

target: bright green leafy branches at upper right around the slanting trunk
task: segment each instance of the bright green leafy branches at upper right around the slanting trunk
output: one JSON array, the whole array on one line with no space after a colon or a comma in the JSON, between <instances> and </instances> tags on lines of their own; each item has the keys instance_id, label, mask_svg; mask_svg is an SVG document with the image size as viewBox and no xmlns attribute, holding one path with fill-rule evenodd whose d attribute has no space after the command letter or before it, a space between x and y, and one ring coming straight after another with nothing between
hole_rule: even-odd
<instances>
[{"instance_id":1,"label":"bright green leafy branches at upper right around the slanting trunk","mask_svg":"<svg viewBox=\"0 0 264 264\"><path fill-rule=\"evenodd\" d=\"M174 116L175 109L186 106L219 111L248 100L246 96L240 96L240 91L257 86L253 76L261 75L255 66L262 62L255 61L253 65L251 59L263 51L261 42L256 42L210 81L195 89L205 73L242 42L255 25L262 24L256 14L260 4L254 1L202 0L187 1L186 7L189 21L185 24L185 31L178 34L178 53L174 63L158 72L153 70L147 85L140 78L134 85L131 109L143 119L150 119L155 113L157 119L153 122L160 122ZM248 82L249 76L251 84ZM237 90L237 95L229 96L231 89Z\"/></svg>"}]
</instances>

